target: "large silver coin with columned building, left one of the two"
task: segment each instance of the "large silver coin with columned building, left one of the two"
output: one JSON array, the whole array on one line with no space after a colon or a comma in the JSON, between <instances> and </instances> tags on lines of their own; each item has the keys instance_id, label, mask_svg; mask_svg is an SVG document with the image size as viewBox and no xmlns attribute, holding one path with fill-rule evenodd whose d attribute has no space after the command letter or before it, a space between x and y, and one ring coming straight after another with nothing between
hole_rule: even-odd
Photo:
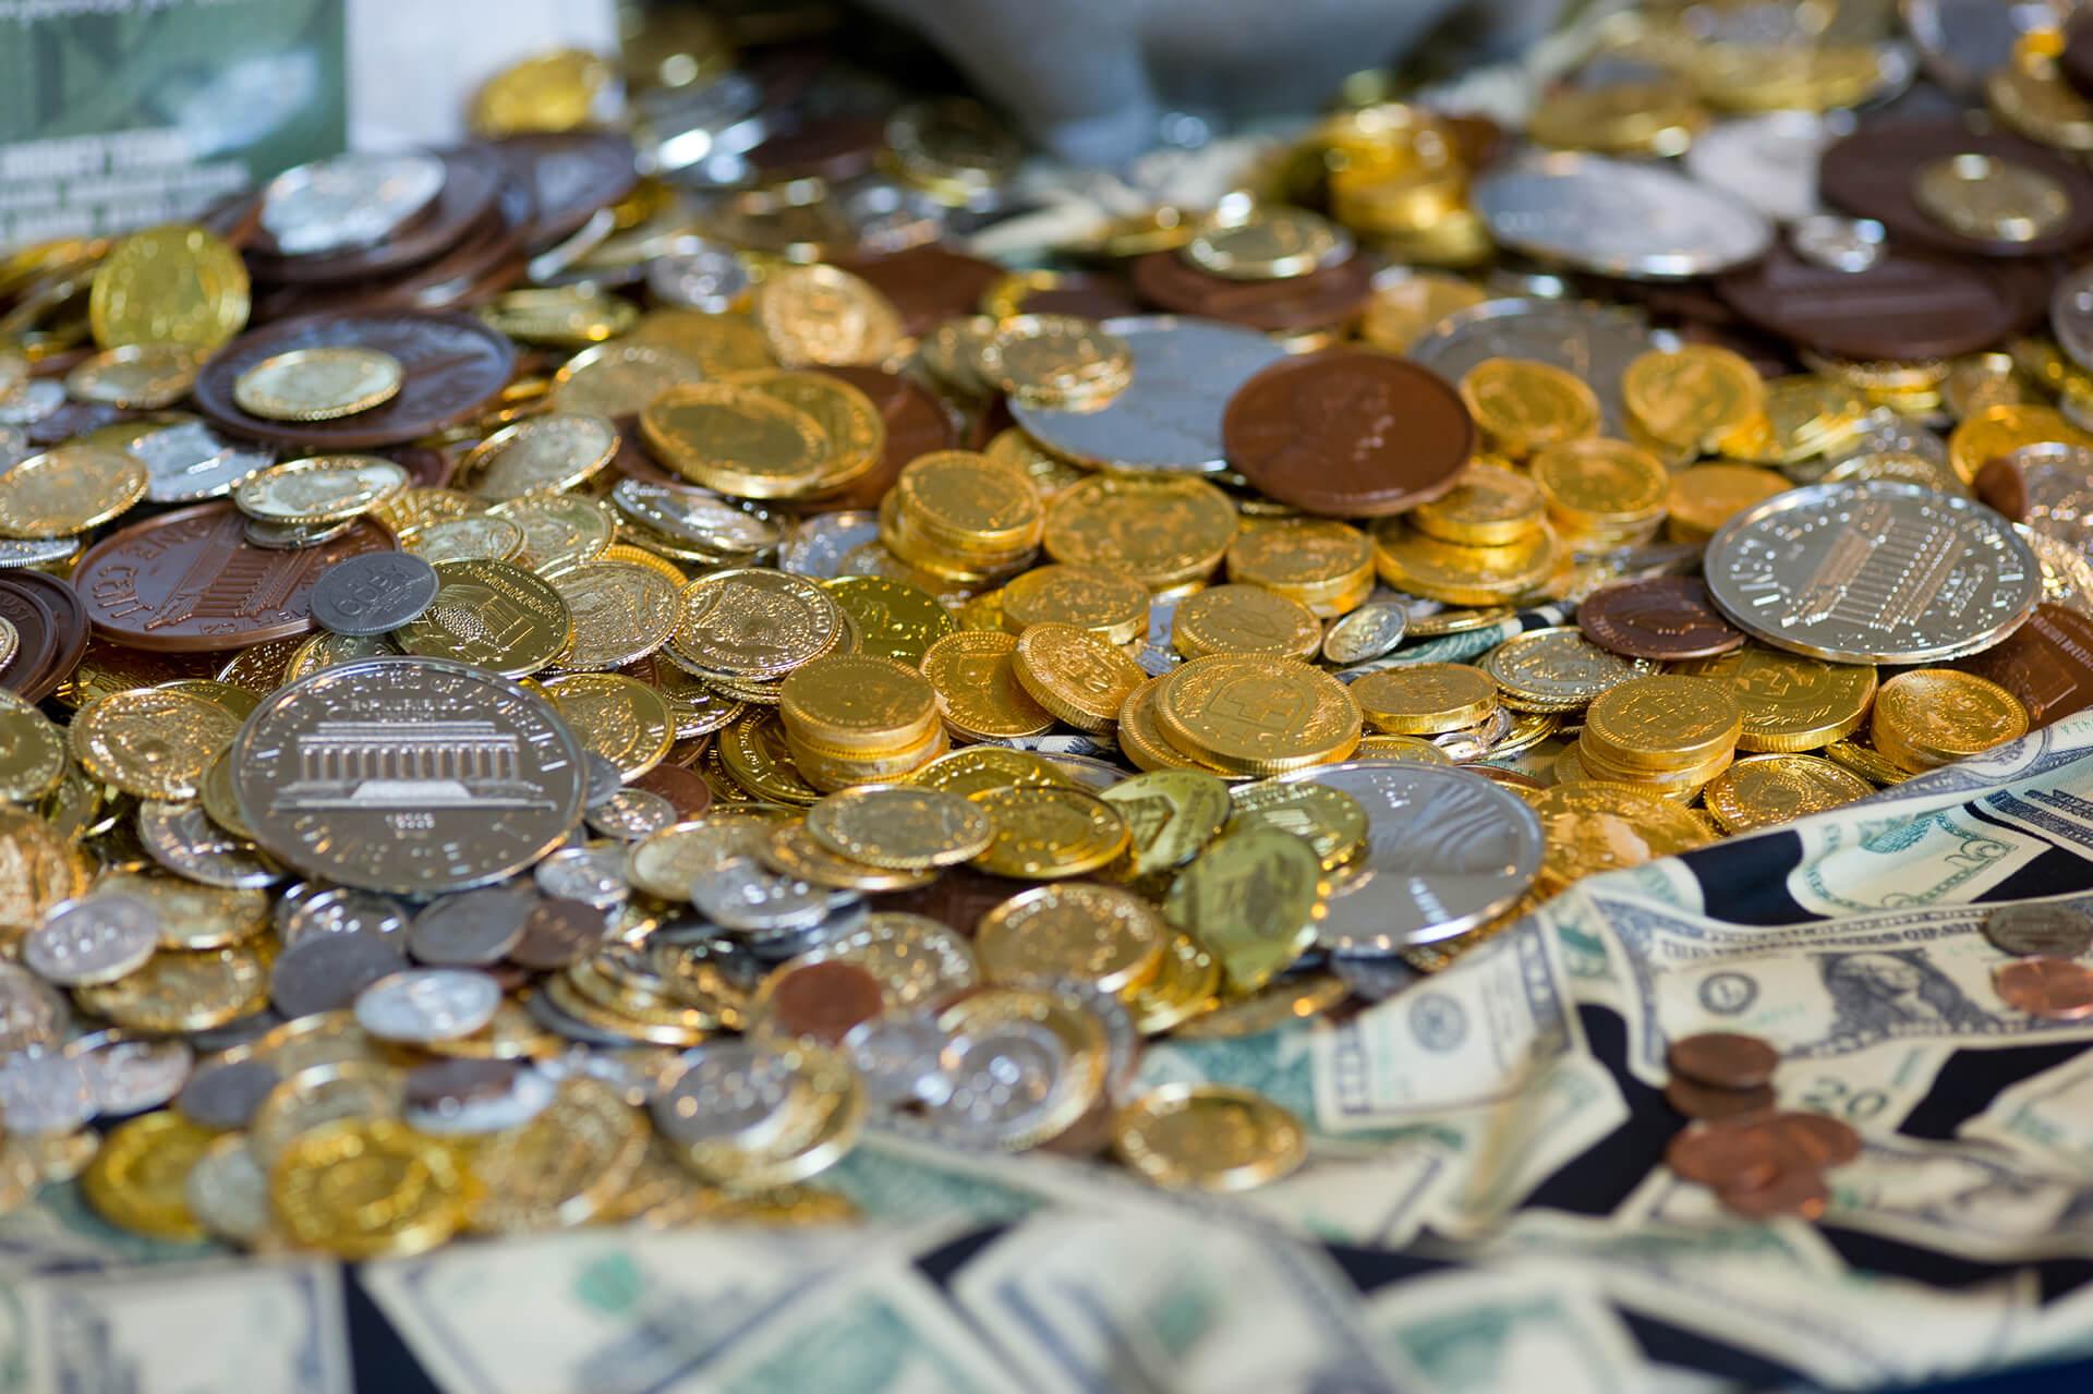
<instances>
[{"instance_id":1,"label":"large silver coin with columned building, left one of the two","mask_svg":"<svg viewBox=\"0 0 2093 1394\"><path fill-rule=\"evenodd\" d=\"M553 710L448 659L360 659L272 693L232 743L255 841L310 877L435 896L511 877L582 818Z\"/></svg>"}]
</instances>

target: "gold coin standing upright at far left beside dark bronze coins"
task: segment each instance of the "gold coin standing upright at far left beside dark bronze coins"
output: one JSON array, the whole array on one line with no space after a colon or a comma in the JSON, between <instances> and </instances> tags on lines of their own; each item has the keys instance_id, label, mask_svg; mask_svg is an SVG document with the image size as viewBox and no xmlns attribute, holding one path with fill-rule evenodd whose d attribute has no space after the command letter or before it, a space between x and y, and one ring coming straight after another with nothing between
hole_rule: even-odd
<instances>
[{"instance_id":1,"label":"gold coin standing upright at far left beside dark bronze coins","mask_svg":"<svg viewBox=\"0 0 2093 1394\"><path fill-rule=\"evenodd\" d=\"M132 232L94 268L88 324L103 347L218 347L247 327L247 264L211 232L172 222Z\"/></svg>"}]
</instances>

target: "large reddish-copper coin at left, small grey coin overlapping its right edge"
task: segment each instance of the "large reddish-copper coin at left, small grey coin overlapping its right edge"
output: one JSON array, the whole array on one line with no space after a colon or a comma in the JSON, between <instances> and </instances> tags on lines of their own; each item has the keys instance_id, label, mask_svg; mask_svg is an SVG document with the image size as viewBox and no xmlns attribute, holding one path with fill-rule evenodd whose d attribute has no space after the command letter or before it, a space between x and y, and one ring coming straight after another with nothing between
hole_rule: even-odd
<instances>
[{"instance_id":1,"label":"large reddish-copper coin at left, small grey coin overlapping its right edge","mask_svg":"<svg viewBox=\"0 0 2093 1394\"><path fill-rule=\"evenodd\" d=\"M73 590L94 632L117 645L157 653L243 649L310 632L312 582L345 557L391 546L370 519L318 546L255 546L241 513L213 502L105 538L80 559Z\"/></svg>"}]
</instances>

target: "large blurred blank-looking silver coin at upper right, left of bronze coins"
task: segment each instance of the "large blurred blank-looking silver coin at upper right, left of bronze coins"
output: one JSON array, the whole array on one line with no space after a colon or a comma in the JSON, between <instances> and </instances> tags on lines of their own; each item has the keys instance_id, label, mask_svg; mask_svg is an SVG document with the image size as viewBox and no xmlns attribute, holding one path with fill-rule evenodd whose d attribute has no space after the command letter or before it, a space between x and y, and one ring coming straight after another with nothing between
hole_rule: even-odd
<instances>
[{"instance_id":1,"label":"large blurred blank-looking silver coin at upper right, left of bronze coins","mask_svg":"<svg viewBox=\"0 0 2093 1394\"><path fill-rule=\"evenodd\" d=\"M1505 247L1605 276L1679 280L1743 266L1773 243L1748 203L1597 155L1547 155L1476 180L1476 211Z\"/></svg>"}]
</instances>

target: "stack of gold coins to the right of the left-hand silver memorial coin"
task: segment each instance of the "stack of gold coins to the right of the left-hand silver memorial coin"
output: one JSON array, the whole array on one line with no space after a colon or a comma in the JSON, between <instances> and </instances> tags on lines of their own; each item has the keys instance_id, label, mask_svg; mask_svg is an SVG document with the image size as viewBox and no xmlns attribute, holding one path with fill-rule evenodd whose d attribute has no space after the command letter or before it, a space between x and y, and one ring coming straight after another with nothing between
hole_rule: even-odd
<instances>
[{"instance_id":1,"label":"stack of gold coins to the right of the left-hand silver memorial coin","mask_svg":"<svg viewBox=\"0 0 2093 1394\"><path fill-rule=\"evenodd\" d=\"M820 791L900 779L950 749L923 674L869 653L795 668L779 684L779 720L793 764Z\"/></svg>"}]
</instances>

